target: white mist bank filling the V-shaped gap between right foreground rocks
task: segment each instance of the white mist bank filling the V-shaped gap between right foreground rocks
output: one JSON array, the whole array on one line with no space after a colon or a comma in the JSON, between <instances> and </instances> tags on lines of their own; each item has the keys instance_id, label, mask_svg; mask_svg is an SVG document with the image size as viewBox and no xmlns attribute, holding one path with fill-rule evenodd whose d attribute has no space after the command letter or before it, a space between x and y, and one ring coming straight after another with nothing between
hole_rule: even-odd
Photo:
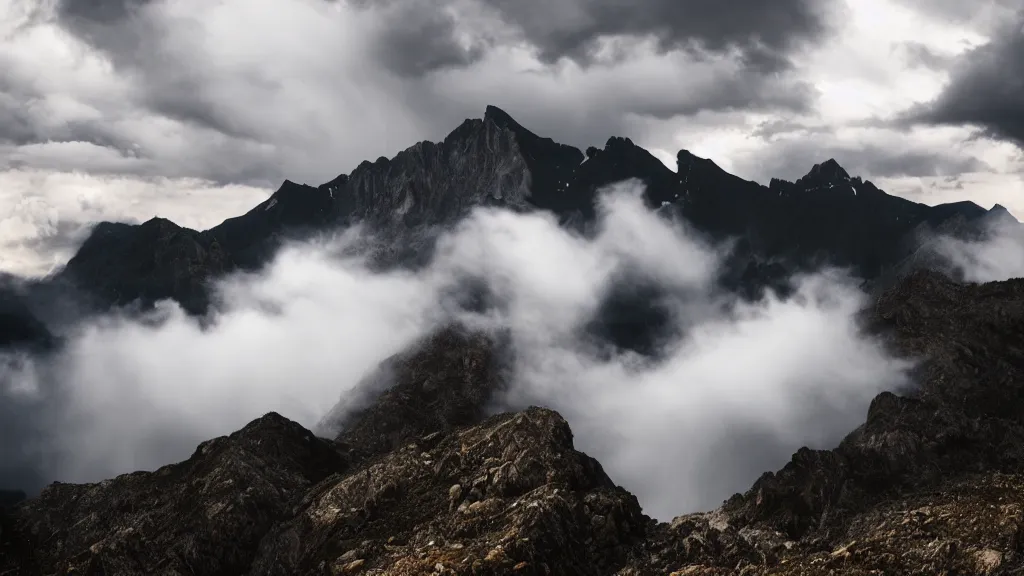
<instances>
[{"instance_id":1,"label":"white mist bank filling the V-shaped gap between right foreground rocks","mask_svg":"<svg viewBox=\"0 0 1024 576\"><path fill-rule=\"evenodd\" d=\"M851 285L816 276L798 294L710 315L655 366L539 342L510 402L561 411L647 513L713 508L797 448L835 447L871 398L905 383L905 366L856 330Z\"/></svg>"}]
</instances>

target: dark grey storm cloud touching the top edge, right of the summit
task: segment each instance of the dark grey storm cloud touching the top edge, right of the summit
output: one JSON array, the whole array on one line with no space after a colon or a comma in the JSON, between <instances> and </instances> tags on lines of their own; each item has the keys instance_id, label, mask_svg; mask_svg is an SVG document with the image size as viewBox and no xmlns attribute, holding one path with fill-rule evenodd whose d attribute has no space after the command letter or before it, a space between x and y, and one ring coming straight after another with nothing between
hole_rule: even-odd
<instances>
[{"instance_id":1,"label":"dark grey storm cloud touching the top edge, right of the summit","mask_svg":"<svg viewBox=\"0 0 1024 576\"><path fill-rule=\"evenodd\" d=\"M543 59L588 61L608 36L654 37L662 50L737 50L751 68L786 67L787 54L828 30L819 0L483 0L522 31Z\"/></svg>"}]
</instances>

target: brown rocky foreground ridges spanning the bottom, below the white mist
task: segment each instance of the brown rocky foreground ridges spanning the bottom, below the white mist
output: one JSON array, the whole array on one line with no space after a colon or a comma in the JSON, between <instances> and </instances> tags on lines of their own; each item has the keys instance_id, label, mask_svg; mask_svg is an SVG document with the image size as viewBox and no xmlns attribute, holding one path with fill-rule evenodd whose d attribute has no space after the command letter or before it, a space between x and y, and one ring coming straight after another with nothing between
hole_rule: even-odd
<instances>
[{"instance_id":1,"label":"brown rocky foreground ridges spanning the bottom, below the white mist","mask_svg":"<svg viewBox=\"0 0 1024 576\"><path fill-rule=\"evenodd\" d=\"M268 414L185 462L0 512L0 574L1021 573L1024 280L915 273L864 323L921 360L918 387L711 512L643 516L550 410L467 411L500 357L450 329L390 361L344 442ZM425 399L429 417L387 419Z\"/></svg>"}]
</instances>

